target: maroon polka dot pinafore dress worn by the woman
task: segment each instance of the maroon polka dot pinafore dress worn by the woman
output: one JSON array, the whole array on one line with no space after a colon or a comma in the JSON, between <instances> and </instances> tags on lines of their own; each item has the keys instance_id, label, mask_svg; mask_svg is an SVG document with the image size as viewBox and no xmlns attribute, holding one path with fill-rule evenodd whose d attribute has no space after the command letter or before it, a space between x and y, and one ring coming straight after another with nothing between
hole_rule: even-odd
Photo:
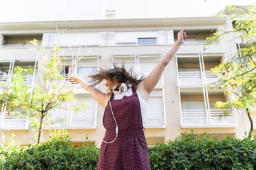
<instances>
[{"instance_id":1,"label":"maroon polka dot pinafore dress worn by the woman","mask_svg":"<svg viewBox=\"0 0 256 170\"><path fill-rule=\"evenodd\" d=\"M116 138L116 123L118 136L112 143L101 143L97 170L150 169L149 149L142 125L140 101L136 89L131 88L133 95L124 95L122 99L114 99L114 94L111 94L111 107L116 122L109 101L105 108L103 125L106 132L103 140L111 142Z\"/></svg>"}]
</instances>

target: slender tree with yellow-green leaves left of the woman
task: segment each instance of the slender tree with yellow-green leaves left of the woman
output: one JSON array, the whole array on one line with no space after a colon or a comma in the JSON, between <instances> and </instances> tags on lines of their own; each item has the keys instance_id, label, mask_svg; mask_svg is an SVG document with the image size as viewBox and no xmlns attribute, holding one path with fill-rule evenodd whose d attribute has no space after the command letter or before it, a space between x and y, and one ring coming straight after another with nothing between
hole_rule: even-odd
<instances>
[{"instance_id":1,"label":"slender tree with yellow-green leaves left of the woman","mask_svg":"<svg viewBox=\"0 0 256 170\"><path fill-rule=\"evenodd\" d=\"M72 101L71 110L77 114L86 108L87 102L76 104L74 89L67 86L67 77L60 73L63 69L61 48L54 45L50 53L45 53L45 47L37 47L38 40L34 39L31 43L34 45L31 49L36 52L35 63L40 62L39 70L36 71L39 84L26 82L26 78L33 74L34 69L16 66L14 75L8 77L8 81L2 84L0 102L6 104L9 112L20 109L21 112L17 117L29 117L32 129L37 129L37 143L40 143L44 125L56 123L47 117L50 110L56 107L67 109L63 104ZM73 56L73 58L70 74L74 73L74 66L81 56Z\"/></svg>"}]
</instances>

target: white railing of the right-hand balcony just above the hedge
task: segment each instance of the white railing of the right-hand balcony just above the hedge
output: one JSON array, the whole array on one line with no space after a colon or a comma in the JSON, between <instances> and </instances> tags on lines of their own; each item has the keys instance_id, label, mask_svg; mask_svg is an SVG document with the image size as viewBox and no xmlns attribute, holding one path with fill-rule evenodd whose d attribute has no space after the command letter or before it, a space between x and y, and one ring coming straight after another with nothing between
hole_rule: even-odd
<instances>
[{"instance_id":1,"label":"white railing of the right-hand balcony just above the hedge","mask_svg":"<svg viewBox=\"0 0 256 170\"><path fill-rule=\"evenodd\" d=\"M181 110L182 125L235 125L236 117L231 109ZM226 112L226 115L224 115ZM208 118L209 117L209 118ZM208 120L209 119L209 120Z\"/></svg>"}]
</instances>

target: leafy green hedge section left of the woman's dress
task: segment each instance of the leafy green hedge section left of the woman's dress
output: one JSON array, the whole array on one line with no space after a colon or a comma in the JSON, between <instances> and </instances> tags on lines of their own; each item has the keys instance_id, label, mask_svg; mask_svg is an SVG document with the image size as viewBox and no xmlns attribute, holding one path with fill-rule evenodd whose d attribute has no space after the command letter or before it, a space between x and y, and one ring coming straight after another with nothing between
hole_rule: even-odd
<instances>
[{"instance_id":1,"label":"leafy green hedge section left of the woman's dress","mask_svg":"<svg viewBox=\"0 0 256 170\"><path fill-rule=\"evenodd\" d=\"M4 148L4 147L3 147ZM99 149L96 145L74 148L65 130L56 130L50 141L28 144L19 151L4 153L3 169L96 169Z\"/></svg>"}]
</instances>

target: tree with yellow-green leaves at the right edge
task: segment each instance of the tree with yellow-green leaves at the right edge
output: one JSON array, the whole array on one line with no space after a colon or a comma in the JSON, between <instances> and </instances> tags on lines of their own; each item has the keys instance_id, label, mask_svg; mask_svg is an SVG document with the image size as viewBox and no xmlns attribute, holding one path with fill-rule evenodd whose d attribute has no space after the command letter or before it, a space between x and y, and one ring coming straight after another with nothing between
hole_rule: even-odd
<instances>
[{"instance_id":1,"label":"tree with yellow-green leaves at the right edge","mask_svg":"<svg viewBox=\"0 0 256 170\"><path fill-rule=\"evenodd\" d=\"M209 88L225 89L224 95L234 94L234 98L226 102L217 101L217 108L245 109L250 120L250 131L248 137L253 132L253 120L250 114L256 108L256 5L251 6L226 6L225 10L218 12L216 17L224 17L230 14L233 28L225 32L215 32L206 38L204 47L225 38L227 34L233 34L235 39L242 40L242 47L237 49L237 53L215 68L211 69L217 73L218 80L209 84ZM243 19L239 19L243 17Z\"/></svg>"}]
</instances>

